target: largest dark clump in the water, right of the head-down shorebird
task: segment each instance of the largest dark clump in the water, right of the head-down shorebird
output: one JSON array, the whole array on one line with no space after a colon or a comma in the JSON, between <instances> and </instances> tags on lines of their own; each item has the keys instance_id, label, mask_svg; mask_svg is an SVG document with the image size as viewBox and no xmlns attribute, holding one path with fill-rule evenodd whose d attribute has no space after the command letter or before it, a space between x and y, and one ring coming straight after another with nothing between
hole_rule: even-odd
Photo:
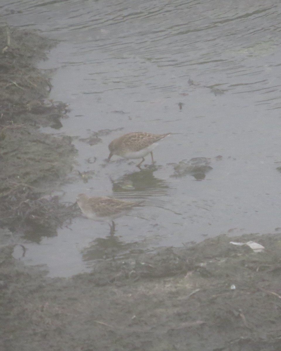
<instances>
[{"instance_id":1,"label":"largest dark clump in the water, right of the head-down shorebird","mask_svg":"<svg viewBox=\"0 0 281 351\"><path fill-rule=\"evenodd\" d=\"M209 166L210 160L210 158L206 157L195 157L187 162L180 161L174 166L175 172L171 177L191 175L196 180L202 180L205 178L206 173L213 169L213 167Z\"/></svg>"}]
</instances>

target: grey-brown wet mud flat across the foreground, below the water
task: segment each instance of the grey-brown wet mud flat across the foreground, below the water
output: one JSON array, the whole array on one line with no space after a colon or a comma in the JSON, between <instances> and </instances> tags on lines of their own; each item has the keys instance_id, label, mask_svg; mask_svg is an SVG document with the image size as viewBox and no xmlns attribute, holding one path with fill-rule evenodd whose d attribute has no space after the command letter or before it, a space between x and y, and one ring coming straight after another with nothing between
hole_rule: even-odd
<instances>
[{"instance_id":1,"label":"grey-brown wet mud flat across the foreground, below the water","mask_svg":"<svg viewBox=\"0 0 281 351\"><path fill-rule=\"evenodd\" d=\"M92 273L44 278L0 263L2 350L280 350L280 233L101 260Z\"/></svg>"}]
</instances>

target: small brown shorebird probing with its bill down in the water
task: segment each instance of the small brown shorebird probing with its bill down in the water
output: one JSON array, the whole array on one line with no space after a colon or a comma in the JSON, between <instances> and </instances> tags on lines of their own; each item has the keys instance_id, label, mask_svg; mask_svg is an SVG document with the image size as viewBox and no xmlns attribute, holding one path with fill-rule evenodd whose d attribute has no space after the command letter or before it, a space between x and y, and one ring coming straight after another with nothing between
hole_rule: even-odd
<instances>
[{"instance_id":1,"label":"small brown shorebird probing with its bill down in the water","mask_svg":"<svg viewBox=\"0 0 281 351\"><path fill-rule=\"evenodd\" d=\"M152 150L158 145L157 141L170 134L150 134L143 132L124 134L122 137L112 140L109 144L110 154L107 161L111 159L112 155L122 156L127 159L141 158L141 162L137 164L137 167L141 168L140 166L144 161L144 157L150 153L152 164L154 165Z\"/></svg>"}]
</instances>

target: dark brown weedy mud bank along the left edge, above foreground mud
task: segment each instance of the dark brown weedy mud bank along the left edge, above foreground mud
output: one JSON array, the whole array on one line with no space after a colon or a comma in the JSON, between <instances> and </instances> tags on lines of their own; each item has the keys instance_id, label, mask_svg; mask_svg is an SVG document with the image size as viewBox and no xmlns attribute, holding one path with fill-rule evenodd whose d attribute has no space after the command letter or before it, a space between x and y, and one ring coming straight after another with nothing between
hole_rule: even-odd
<instances>
[{"instance_id":1,"label":"dark brown weedy mud bank along the left edge, above foreground mud","mask_svg":"<svg viewBox=\"0 0 281 351\"><path fill-rule=\"evenodd\" d=\"M0 226L54 235L72 208L46 197L66 181L76 150L69 137L39 132L58 128L67 106L48 100L49 71L34 65L56 42L34 32L0 27Z\"/></svg>"}]
</instances>

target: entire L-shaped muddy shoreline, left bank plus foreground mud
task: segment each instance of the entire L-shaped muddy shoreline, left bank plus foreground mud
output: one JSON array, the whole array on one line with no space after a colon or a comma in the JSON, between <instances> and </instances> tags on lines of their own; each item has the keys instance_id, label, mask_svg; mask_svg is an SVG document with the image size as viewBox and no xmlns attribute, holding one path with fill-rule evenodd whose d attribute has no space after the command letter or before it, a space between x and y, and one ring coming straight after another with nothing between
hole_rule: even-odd
<instances>
[{"instance_id":1,"label":"entire L-shaped muddy shoreline, left bank plus foreground mud","mask_svg":"<svg viewBox=\"0 0 281 351\"><path fill-rule=\"evenodd\" d=\"M278 230L101 259L68 279L13 258L18 236L56 235L77 214L54 192L75 165L71 138L39 132L69 108L35 67L55 44L0 27L0 350L279 351ZM265 250L229 243L249 240Z\"/></svg>"}]
</instances>

